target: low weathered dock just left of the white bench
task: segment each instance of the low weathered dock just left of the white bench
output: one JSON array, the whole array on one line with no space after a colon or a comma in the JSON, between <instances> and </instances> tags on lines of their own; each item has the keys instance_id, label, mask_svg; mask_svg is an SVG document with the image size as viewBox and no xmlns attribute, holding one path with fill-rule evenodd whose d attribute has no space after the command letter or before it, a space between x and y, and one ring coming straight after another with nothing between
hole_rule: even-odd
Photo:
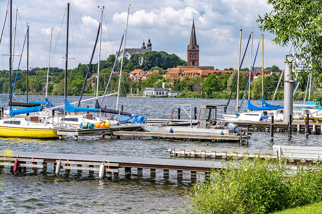
<instances>
[{"instance_id":1,"label":"low weathered dock just left of the white bench","mask_svg":"<svg viewBox=\"0 0 322 214\"><path fill-rule=\"evenodd\" d=\"M243 148L221 148L221 147L180 147L168 149L170 156L185 157L190 156L195 158L200 156L205 158L211 156L211 158L219 158L226 160L227 158L240 158L240 157L260 157L275 159L276 154L273 150L259 150L259 149L243 149Z\"/></svg>"}]
</instances>

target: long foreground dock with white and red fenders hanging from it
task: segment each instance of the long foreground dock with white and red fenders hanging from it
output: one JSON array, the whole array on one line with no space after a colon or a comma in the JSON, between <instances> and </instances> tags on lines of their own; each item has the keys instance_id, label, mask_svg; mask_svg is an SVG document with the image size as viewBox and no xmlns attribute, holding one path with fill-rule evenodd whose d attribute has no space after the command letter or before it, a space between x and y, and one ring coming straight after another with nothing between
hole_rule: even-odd
<instances>
[{"instance_id":1,"label":"long foreground dock with white and red fenders hanging from it","mask_svg":"<svg viewBox=\"0 0 322 214\"><path fill-rule=\"evenodd\" d=\"M52 165L55 171L56 163L61 159L61 172L65 173L71 170L77 170L77 173L88 171L93 174L99 171L99 165L105 159L105 174L107 179L118 176L118 169L125 168L125 177L131 176L131 169L137 168L137 177L143 176L143 169L150 169L150 177L156 177L156 170L163 170L163 177L169 178L169 170L177 172L177 180L183 180L183 171L191 172L191 179L196 180L197 172L204 172L207 177L212 170L220 172L223 164L220 161L196 161L196 160L176 160L165 158L144 158L144 157L123 157L123 156L105 156L105 155L80 155L46 152L22 152L11 151L7 154L0 151L0 170L1 167L14 165L14 160L18 157L20 170L25 167L33 169L47 170Z\"/></svg>"}]
</instances>

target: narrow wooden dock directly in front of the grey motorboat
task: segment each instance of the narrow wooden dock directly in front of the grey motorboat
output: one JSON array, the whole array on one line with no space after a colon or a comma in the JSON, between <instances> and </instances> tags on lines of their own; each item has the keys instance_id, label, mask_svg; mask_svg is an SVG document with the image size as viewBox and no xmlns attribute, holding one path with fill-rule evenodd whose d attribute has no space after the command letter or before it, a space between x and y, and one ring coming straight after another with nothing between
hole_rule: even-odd
<instances>
[{"instance_id":1,"label":"narrow wooden dock directly in front of the grey motorboat","mask_svg":"<svg viewBox=\"0 0 322 214\"><path fill-rule=\"evenodd\" d=\"M126 135L126 136L150 136L157 139L172 139L172 140L200 140L200 141L233 141L242 142L248 141L250 136L227 136L227 135L196 135L196 134L181 134L181 133L154 133L154 132L143 132L143 131L113 131L113 135Z\"/></svg>"}]
</instances>

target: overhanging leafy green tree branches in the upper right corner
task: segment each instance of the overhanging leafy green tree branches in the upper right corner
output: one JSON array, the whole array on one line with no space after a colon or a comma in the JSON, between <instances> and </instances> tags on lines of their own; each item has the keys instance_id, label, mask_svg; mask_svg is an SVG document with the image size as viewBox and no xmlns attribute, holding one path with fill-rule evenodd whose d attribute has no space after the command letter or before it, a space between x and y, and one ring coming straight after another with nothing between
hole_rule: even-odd
<instances>
[{"instance_id":1,"label":"overhanging leafy green tree branches in the upper right corner","mask_svg":"<svg viewBox=\"0 0 322 214\"><path fill-rule=\"evenodd\" d=\"M257 20L260 23L259 28L275 35L272 39L273 43L282 47L292 44L300 56L313 56L306 59L306 63L312 64L312 68L299 72L300 82L304 81L304 73L316 70L313 76L320 84L322 61L313 61L313 59L322 58L322 2L319 0L269 0L268 4L273 9L263 17L259 15Z\"/></svg>"}]
</instances>

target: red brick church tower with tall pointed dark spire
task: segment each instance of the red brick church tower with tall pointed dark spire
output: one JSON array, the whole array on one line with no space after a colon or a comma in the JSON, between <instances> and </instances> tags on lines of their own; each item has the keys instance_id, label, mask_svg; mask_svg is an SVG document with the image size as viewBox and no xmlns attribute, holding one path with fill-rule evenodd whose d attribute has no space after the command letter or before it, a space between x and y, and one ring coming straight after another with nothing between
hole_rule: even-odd
<instances>
[{"instance_id":1,"label":"red brick church tower with tall pointed dark spire","mask_svg":"<svg viewBox=\"0 0 322 214\"><path fill-rule=\"evenodd\" d=\"M199 45L197 45L196 33L194 30L194 19L192 21L190 43L187 52L187 66L199 66Z\"/></svg>"}]
</instances>

